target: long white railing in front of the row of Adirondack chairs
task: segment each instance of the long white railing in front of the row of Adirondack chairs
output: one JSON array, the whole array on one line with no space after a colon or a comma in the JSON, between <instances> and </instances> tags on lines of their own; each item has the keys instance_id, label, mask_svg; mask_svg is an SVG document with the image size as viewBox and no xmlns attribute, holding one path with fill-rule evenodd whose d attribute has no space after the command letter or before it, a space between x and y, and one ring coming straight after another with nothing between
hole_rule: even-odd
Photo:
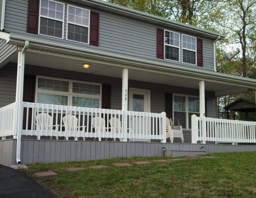
<instances>
[{"instance_id":1,"label":"long white railing in front of the row of Adirondack chairs","mask_svg":"<svg viewBox=\"0 0 256 198\"><path fill-rule=\"evenodd\" d=\"M166 141L166 114L23 102L26 136L158 139Z\"/></svg>"}]
</instances>

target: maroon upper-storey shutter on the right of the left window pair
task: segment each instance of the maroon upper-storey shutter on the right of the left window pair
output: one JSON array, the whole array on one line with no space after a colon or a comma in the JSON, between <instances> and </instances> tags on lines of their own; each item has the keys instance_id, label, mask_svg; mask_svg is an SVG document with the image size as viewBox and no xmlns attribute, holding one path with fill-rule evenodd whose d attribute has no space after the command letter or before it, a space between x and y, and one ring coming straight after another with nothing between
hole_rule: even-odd
<instances>
[{"instance_id":1,"label":"maroon upper-storey shutter on the right of the left window pair","mask_svg":"<svg viewBox=\"0 0 256 198\"><path fill-rule=\"evenodd\" d=\"M91 11L90 20L90 45L99 46L99 19L100 14Z\"/></svg>"}]
</instances>

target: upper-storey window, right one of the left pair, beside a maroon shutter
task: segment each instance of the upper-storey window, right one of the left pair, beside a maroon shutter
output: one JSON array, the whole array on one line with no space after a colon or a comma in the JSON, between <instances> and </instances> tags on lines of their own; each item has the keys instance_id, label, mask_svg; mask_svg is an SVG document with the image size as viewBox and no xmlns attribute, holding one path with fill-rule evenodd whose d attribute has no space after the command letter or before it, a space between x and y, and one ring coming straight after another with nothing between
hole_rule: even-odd
<instances>
[{"instance_id":1,"label":"upper-storey window, right one of the left pair, beside a maroon shutter","mask_svg":"<svg viewBox=\"0 0 256 198\"><path fill-rule=\"evenodd\" d=\"M67 40L88 43L90 10L67 6Z\"/></svg>"}]
</instances>

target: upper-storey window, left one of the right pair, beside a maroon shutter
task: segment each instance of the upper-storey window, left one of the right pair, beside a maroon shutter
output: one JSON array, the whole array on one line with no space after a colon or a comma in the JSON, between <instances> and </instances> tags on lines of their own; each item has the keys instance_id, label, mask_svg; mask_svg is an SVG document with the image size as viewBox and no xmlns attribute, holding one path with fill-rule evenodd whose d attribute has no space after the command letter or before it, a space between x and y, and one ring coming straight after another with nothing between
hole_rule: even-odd
<instances>
[{"instance_id":1,"label":"upper-storey window, left one of the right pair, beside a maroon shutter","mask_svg":"<svg viewBox=\"0 0 256 198\"><path fill-rule=\"evenodd\" d=\"M165 30L165 59L179 61L180 34Z\"/></svg>"}]
</instances>

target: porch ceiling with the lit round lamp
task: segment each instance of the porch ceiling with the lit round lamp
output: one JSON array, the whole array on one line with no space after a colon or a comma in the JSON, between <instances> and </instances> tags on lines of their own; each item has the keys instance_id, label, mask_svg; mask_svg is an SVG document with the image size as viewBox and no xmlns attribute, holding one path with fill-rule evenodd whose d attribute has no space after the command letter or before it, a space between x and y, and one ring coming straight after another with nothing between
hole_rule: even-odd
<instances>
[{"instance_id":1,"label":"porch ceiling with the lit round lamp","mask_svg":"<svg viewBox=\"0 0 256 198\"><path fill-rule=\"evenodd\" d=\"M15 53L11 60L17 62L17 53ZM91 63L89 69L84 69L82 63ZM122 70L124 67L113 66L109 63L104 62L93 62L87 61L83 58L74 57L61 57L53 56L50 54L42 54L35 52L26 52L25 56L26 65L35 65L41 67L49 67L62 70L70 70L82 73L91 73L97 75L111 76L111 77L122 77ZM192 77L182 76L177 73L159 73L154 71L146 71L143 69L129 68L129 79L136 81L144 81L150 83L158 83L179 87L187 87L193 89L199 89L199 81L201 79L195 79ZM256 87L255 87L256 89ZM205 90L214 91L215 96L226 96L231 94L246 93L252 91L251 87L233 85L232 83L213 82L205 80ZM171 92L171 90L170 90Z\"/></svg>"}]
</instances>

